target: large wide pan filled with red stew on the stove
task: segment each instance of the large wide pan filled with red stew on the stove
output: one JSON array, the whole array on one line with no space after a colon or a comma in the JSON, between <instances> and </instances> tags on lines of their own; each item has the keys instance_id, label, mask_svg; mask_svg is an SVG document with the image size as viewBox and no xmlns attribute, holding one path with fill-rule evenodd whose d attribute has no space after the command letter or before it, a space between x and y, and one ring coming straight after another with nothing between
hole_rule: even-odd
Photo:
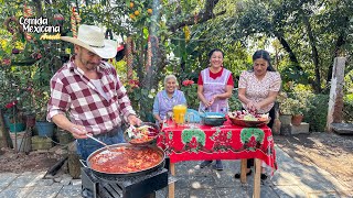
<instances>
[{"instance_id":1,"label":"large wide pan filled with red stew on the stove","mask_svg":"<svg viewBox=\"0 0 353 198\"><path fill-rule=\"evenodd\" d=\"M165 154L153 145L120 143L101 147L86 161L95 175L104 178L130 177L152 173L164 166Z\"/></svg>"}]
</instances>

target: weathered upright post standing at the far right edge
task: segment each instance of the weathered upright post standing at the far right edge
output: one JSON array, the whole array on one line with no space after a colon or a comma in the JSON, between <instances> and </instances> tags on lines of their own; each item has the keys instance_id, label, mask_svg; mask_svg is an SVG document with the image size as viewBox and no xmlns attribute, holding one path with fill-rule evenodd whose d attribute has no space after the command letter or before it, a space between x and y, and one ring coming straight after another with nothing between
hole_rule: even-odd
<instances>
[{"instance_id":1,"label":"weathered upright post standing at the far right edge","mask_svg":"<svg viewBox=\"0 0 353 198\"><path fill-rule=\"evenodd\" d=\"M327 131L329 132L332 132L331 123L342 122L345 62L346 57L336 57L334 58L333 63L329 111L327 120Z\"/></svg>"}]
</instances>

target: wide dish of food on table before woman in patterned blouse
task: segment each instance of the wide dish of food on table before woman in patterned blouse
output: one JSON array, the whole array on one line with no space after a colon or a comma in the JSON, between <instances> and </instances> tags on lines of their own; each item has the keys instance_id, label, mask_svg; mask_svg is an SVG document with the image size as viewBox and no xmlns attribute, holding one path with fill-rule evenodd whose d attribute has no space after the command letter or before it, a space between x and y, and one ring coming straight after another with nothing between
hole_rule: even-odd
<instances>
[{"instance_id":1,"label":"wide dish of food on table before woman in patterned blouse","mask_svg":"<svg viewBox=\"0 0 353 198\"><path fill-rule=\"evenodd\" d=\"M238 110L228 113L229 120L234 125L257 128L267 124L270 121L268 113L249 113L246 110Z\"/></svg>"}]
</instances>

